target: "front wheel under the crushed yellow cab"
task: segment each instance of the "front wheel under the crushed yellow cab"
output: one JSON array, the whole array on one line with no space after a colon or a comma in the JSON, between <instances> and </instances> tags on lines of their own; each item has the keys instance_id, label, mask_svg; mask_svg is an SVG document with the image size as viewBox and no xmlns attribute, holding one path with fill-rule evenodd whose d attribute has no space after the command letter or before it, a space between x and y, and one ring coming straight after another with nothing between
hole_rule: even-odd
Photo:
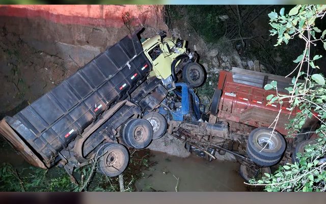
<instances>
[{"instance_id":1,"label":"front wheel under the crushed yellow cab","mask_svg":"<svg viewBox=\"0 0 326 204\"><path fill-rule=\"evenodd\" d=\"M183 67L182 78L188 85L199 87L205 81L205 71L198 63L192 62Z\"/></svg>"}]
</instances>

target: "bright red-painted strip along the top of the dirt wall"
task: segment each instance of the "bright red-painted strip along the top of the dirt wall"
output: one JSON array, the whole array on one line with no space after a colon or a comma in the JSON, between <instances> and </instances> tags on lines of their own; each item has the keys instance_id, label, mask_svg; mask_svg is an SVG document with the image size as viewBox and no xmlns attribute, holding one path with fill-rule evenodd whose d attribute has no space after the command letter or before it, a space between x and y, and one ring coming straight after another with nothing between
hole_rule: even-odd
<instances>
[{"instance_id":1,"label":"bright red-painted strip along the top of the dirt wall","mask_svg":"<svg viewBox=\"0 0 326 204\"><path fill-rule=\"evenodd\" d=\"M99 27L123 27L122 16L132 26L155 24L161 15L162 6L156 5L0 5L0 16L41 17L56 23Z\"/></svg>"}]
</instances>

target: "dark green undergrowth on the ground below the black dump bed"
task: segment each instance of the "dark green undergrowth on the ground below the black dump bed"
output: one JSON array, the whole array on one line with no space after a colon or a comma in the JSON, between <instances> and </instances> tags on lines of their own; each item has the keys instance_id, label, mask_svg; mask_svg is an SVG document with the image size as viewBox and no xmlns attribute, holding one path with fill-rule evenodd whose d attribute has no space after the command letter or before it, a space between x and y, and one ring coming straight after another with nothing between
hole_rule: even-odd
<instances>
[{"instance_id":1,"label":"dark green undergrowth on the ground below the black dump bed","mask_svg":"<svg viewBox=\"0 0 326 204\"><path fill-rule=\"evenodd\" d=\"M145 152L145 154L144 154ZM148 160L148 151L135 151L130 158L128 168L123 172L125 191L135 191L134 184L141 176L141 170L151 164ZM0 166L0 191L120 191L119 178L107 177L96 168L91 171L88 165L74 171L78 185L71 182L69 175L63 168L53 167L49 170L29 167L21 170L15 169L11 164L3 163ZM90 182L86 184L88 177Z\"/></svg>"}]
</instances>

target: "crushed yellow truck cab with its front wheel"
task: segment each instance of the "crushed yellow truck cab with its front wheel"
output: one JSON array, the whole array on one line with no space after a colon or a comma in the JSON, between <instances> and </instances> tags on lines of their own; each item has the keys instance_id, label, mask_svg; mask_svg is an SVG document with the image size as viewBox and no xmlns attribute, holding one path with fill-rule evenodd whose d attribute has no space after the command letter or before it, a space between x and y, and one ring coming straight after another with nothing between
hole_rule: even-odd
<instances>
[{"instance_id":1,"label":"crushed yellow truck cab with its front wheel","mask_svg":"<svg viewBox=\"0 0 326 204\"><path fill-rule=\"evenodd\" d=\"M177 73L180 71L183 81L188 85L198 87L203 84L205 71L195 62L196 57L187 52L186 41L156 35L142 42L142 46L153 65L150 76L155 75L168 90L175 88L174 82L178 81Z\"/></svg>"}]
</instances>

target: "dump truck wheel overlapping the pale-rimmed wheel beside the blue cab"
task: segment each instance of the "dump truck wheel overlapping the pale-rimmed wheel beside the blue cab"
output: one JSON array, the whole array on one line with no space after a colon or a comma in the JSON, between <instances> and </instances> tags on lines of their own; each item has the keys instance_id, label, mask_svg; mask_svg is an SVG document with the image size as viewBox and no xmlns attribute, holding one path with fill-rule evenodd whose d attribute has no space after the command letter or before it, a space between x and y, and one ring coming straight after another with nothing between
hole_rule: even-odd
<instances>
[{"instance_id":1,"label":"dump truck wheel overlapping the pale-rimmed wheel beside the blue cab","mask_svg":"<svg viewBox=\"0 0 326 204\"><path fill-rule=\"evenodd\" d=\"M152 125L145 119L130 119L121 129L122 140L126 145L135 149L147 147L153 139Z\"/></svg>"}]
</instances>

